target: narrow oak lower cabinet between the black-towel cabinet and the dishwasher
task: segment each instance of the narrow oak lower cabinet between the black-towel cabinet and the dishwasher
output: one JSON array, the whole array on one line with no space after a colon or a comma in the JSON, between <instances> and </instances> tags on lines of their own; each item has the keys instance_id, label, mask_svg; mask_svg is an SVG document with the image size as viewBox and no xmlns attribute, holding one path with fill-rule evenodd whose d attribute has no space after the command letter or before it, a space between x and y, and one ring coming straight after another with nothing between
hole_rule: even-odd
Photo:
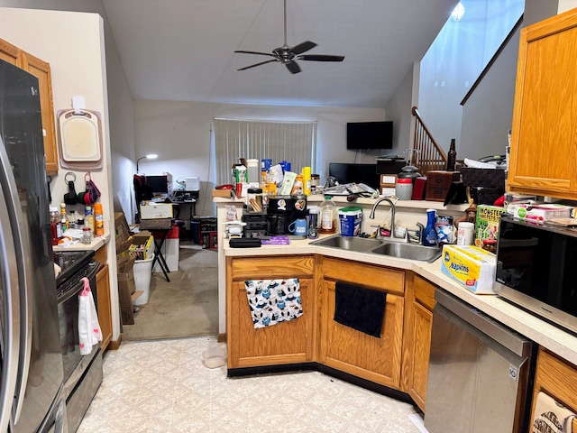
<instances>
[{"instance_id":1,"label":"narrow oak lower cabinet between the black-towel cabinet and the dishwasher","mask_svg":"<svg viewBox=\"0 0 577 433\"><path fill-rule=\"evenodd\" d=\"M420 410L425 411L435 285L410 272L405 301L408 309L402 390L408 392Z\"/></svg>"}]
</instances>

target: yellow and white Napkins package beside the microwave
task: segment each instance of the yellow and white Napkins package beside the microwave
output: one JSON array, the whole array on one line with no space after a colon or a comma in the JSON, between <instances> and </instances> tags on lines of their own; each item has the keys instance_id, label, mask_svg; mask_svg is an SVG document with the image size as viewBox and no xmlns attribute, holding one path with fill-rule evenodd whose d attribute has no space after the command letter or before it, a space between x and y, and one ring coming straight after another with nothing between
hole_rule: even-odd
<instances>
[{"instance_id":1,"label":"yellow and white Napkins package beside the microwave","mask_svg":"<svg viewBox=\"0 0 577 433\"><path fill-rule=\"evenodd\" d=\"M444 245L441 271L477 294L492 294L497 257L474 245Z\"/></svg>"}]
</instances>

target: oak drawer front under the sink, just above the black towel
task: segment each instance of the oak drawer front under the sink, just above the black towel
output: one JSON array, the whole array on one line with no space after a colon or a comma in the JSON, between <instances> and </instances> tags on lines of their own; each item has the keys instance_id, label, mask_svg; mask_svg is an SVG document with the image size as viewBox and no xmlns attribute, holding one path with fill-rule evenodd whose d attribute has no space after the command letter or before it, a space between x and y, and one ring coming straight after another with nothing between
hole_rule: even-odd
<instances>
[{"instance_id":1,"label":"oak drawer front under the sink, just above the black towel","mask_svg":"<svg viewBox=\"0 0 577 433\"><path fill-rule=\"evenodd\" d=\"M405 292L405 272L397 269L323 257L322 272L324 279L347 281L398 294Z\"/></svg>"}]
</instances>

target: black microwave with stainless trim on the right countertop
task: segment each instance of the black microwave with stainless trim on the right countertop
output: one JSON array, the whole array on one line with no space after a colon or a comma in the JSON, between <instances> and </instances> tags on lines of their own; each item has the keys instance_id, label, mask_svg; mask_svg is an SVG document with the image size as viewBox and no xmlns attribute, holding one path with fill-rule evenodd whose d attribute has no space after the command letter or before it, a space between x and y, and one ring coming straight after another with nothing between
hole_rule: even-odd
<instances>
[{"instance_id":1,"label":"black microwave with stainless trim on the right countertop","mask_svg":"<svg viewBox=\"0 0 577 433\"><path fill-rule=\"evenodd\" d=\"M501 217L495 289L577 332L577 229Z\"/></svg>"}]
</instances>

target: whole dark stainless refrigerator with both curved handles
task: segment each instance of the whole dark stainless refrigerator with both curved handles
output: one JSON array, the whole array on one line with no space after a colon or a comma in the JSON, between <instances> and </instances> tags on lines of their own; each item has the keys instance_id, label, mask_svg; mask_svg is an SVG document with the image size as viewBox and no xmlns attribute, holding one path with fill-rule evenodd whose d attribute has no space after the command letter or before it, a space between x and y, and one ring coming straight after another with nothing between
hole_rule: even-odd
<instances>
[{"instance_id":1,"label":"whole dark stainless refrigerator with both curved handles","mask_svg":"<svg viewBox=\"0 0 577 433\"><path fill-rule=\"evenodd\" d=\"M68 431L40 107L0 60L0 432Z\"/></svg>"}]
</instances>

